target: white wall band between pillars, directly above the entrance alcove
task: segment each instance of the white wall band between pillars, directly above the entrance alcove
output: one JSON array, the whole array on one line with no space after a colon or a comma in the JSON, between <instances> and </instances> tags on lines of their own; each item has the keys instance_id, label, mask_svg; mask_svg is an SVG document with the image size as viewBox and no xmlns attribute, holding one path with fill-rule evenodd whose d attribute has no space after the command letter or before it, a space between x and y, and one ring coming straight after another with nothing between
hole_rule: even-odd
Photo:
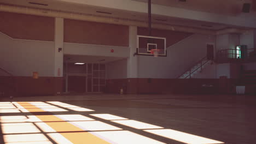
<instances>
[{"instance_id":1,"label":"white wall band between pillars, directly above the entrance alcove","mask_svg":"<svg viewBox=\"0 0 256 144\"><path fill-rule=\"evenodd\" d=\"M129 47L64 43L64 55L129 57ZM111 50L114 52L111 52Z\"/></svg>"}]
</instances>

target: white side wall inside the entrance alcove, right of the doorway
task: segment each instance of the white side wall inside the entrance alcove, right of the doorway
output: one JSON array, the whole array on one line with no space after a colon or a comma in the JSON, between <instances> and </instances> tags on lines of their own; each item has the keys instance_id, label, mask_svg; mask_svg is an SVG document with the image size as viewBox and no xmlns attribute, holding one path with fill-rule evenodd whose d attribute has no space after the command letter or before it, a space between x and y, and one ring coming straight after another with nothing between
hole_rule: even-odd
<instances>
[{"instance_id":1,"label":"white side wall inside the entrance alcove, right of the doorway","mask_svg":"<svg viewBox=\"0 0 256 144\"><path fill-rule=\"evenodd\" d=\"M126 79L127 59L121 59L106 64L106 79Z\"/></svg>"}]
</instances>

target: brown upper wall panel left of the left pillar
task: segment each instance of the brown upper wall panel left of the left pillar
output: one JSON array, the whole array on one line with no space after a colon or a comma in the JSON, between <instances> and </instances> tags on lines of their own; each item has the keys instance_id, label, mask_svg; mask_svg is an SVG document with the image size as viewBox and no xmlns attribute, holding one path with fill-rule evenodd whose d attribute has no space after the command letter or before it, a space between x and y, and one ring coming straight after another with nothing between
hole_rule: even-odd
<instances>
[{"instance_id":1,"label":"brown upper wall panel left of the left pillar","mask_svg":"<svg viewBox=\"0 0 256 144\"><path fill-rule=\"evenodd\" d=\"M54 41L54 17L0 12L0 23L11 38Z\"/></svg>"}]
</instances>

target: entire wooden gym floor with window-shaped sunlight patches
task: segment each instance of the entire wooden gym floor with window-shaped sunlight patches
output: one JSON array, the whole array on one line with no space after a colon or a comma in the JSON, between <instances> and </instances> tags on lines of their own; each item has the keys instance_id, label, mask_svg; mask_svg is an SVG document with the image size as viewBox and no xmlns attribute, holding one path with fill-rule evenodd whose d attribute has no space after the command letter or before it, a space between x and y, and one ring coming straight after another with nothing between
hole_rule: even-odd
<instances>
[{"instance_id":1,"label":"entire wooden gym floor with window-shaped sunlight patches","mask_svg":"<svg viewBox=\"0 0 256 144\"><path fill-rule=\"evenodd\" d=\"M4 144L256 143L256 96L88 94L0 103Z\"/></svg>"}]
</instances>

